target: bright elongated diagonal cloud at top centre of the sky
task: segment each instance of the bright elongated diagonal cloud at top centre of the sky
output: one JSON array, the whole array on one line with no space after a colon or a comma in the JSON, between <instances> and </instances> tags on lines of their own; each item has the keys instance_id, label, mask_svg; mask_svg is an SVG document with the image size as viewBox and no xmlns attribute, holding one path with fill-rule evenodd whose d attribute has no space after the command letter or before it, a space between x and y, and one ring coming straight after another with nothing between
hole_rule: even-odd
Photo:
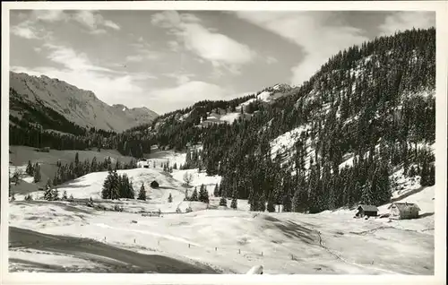
<instances>
[{"instance_id":1,"label":"bright elongated diagonal cloud at top centre of the sky","mask_svg":"<svg viewBox=\"0 0 448 285\"><path fill-rule=\"evenodd\" d=\"M214 67L224 67L231 73L239 73L241 65L254 60L256 53L248 46L202 25L194 14L167 11L152 15L153 25L168 29L184 48L193 52ZM168 42L172 50L178 50L175 41Z\"/></svg>"}]
</instances>

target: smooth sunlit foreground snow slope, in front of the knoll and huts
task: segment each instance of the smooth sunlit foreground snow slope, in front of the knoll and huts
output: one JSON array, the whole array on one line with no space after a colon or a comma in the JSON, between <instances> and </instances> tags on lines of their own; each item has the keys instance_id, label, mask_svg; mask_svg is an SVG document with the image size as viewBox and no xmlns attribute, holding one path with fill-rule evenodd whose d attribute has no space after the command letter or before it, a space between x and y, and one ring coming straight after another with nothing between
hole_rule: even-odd
<instances>
[{"instance_id":1,"label":"smooth sunlit foreground snow slope, in front of the knoll and huts","mask_svg":"<svg viewBox=\"0 0 448 285\"><path fill-rule=\"evenodd\" d=\"M434 194L434 187L425 191L421 198L431 199L427 194ZM426 230L430 215L388 223L353 219L347 210L314 215L203 210L161 218L87 211L82 205L15 202L10 224L188 258L223 272L245 273L263 264L268 274L434 273L434 234Z\"/></svg>"}]
</instances>

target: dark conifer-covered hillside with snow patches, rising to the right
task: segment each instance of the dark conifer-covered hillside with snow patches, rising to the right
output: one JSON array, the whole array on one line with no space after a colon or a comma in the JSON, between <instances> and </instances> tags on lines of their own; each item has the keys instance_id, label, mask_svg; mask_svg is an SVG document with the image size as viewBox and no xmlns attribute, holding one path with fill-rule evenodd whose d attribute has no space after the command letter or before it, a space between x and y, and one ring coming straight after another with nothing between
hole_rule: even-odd
<instances>
[{"instance_id":1,"label":"dark conifer-covered hillside with snow patches, rising to the right","mask_svg":"<svg viewBox=\"0 0 448 285\"><path fill-rule=\"evenodd\" d=\"M203 124L213 114L236 113L228 123ZM11 129L11 143L67 147L64 134L35 142L30 132L39 130L24 136ZM286 212L380 205L390 200L390 176L398 169L420 177L422 186L435 183L435 29L342 50L297 88L201 101L120 134L71 129L77 135L71 140L81 141L70 146L136 158L152 144L177 151L202 144L188 151L183 167L222 176L217 194L248 199L252 211L263 211L264 202L270 212L275 204Z\"/></svg>"}]
</instances>

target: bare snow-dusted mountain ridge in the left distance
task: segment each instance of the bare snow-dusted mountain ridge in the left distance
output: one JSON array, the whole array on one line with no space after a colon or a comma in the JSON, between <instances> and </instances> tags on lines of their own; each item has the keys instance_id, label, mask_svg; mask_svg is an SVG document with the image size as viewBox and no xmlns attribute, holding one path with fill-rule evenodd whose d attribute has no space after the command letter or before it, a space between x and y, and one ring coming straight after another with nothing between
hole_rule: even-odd
<instances>
[{"instance_id":1,"label":"bare snow-dusted mountain ridge in the left distance","mask_svg":"<svg viewBox=\"0 0 448 285\"><path fill-rule=\"evenodd\" d=\"M34 122L36 117L42 116L31 115L30 108L46 110L44 113L51 109L75 125L113 132L150 123L158 116L148 108L109 106L92 91L78 89L45 75L37 77L10 72L10 100L11 115L16 118L26 117ZM51 125L47 127L51 128Z\"/></svg>"}]
</instances>

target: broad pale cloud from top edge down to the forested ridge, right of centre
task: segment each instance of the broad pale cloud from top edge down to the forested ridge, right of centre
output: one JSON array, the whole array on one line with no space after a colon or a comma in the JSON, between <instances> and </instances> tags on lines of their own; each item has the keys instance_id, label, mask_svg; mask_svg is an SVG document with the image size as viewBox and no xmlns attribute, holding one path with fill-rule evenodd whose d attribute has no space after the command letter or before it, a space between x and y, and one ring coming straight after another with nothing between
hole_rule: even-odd
<instances>
[{"instance_id":1,"label":"broad pale cloud from top edge down to the forested ridge, right of centre","mask_svg":"<svg viewBox=\"0 0 448 285\"><path fill-rule=\"evenodd\" d=\"M236 15L303 49L305 56L291 69L292 84L308 80L330 56L341 49L367 40L363 30L344 25L337 19L332 19L329 24L331 13L240 11Z\"/></svg>"}]
</instances>

